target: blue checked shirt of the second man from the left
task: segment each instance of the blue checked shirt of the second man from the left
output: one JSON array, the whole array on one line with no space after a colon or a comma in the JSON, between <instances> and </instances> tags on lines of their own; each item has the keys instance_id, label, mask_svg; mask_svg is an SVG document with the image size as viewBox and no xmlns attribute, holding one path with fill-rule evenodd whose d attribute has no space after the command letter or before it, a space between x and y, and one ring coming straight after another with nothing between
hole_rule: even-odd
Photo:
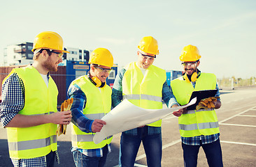
<instances>
[{"instance_id":1,"label":"blue checked shirt of the second man from the left","mask_svg":"<svg viewBox=\"0 0 256 167\"><path fill-rule=\"evenodd\" d=\"M69 87L68 97L73 97L73 104L71 106L72 111L72 120L71 122L76 125L83 132L92 132L92 122L94 120L90 120L83 114L83 109L85 109L86 105L86 96L85 93L80 89L80 87L76 84ZM80 149L80 148L71 148L71 152L80 151L88 157L102 157L103 149ZM111 144L108 144L108 152L111 152Z\"/></svg>"}]
</instances>

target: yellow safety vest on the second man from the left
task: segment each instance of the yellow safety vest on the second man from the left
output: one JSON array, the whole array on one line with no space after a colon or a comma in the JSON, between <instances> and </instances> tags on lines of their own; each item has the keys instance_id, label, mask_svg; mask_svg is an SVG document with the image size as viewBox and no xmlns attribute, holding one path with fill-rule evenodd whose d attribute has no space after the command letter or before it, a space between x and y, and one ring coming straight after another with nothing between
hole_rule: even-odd
<instances>
[{"instance_id":1,"label":"yellow safety vest on the second man from the left","mask_svg":"<svg viewBox=\"0 0 256 167\"><path fill-rule=\"evenodd\" d=\"M92 84L87 76L79 77L74 80L71 85L77 84L85 93L86 105L83 114L91 120L101 119L109 111L111 111L111 87L106 85L104 88L97 88ZM109 136L101 143L95 144L93 136L95 133L82 132L76 125L72 125L71 141L72 146L81 149L103 148L106 144L111 143L113 136Z\"/></svg>"}]
</instances>

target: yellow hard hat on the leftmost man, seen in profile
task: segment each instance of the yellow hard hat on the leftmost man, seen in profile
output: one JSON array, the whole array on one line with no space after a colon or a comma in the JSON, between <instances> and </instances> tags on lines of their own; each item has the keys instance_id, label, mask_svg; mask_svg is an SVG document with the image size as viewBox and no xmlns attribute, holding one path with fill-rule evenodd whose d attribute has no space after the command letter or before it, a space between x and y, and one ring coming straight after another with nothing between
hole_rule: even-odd
<instances>
[{"instance_id":1,"label":"yellow hard hat on the leftmost man, seen in profile","mask_svg":"<svg viewBox=\"0 0 256 167\"><path fill-rule=\"evenodd\" d=\"M36 35L32 51L34 52L36 49L52 49L62 53L69 53L69 51L63 50L62 37L52 31L44 31Z\"/></svg>"}]
</instances>

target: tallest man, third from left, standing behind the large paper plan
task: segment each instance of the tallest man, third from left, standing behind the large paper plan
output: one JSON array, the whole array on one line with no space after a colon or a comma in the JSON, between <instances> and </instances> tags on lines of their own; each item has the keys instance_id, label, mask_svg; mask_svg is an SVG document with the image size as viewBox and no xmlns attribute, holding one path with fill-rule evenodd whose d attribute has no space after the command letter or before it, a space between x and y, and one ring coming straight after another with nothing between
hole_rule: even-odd
<instances>
[{"instance_id":1,"label":"tallest man, third from left, standing behind the large paper plan","mask_svg":"<svg viewBox=\"0 0 256 167\"><path fill-rule=\"evenodd\" d=\"M162 109L162 100L169 107L178 106L166 82L166 71L152 63L159 54L158 43L146 36L138 44L138 61L129 63L118 73L113 85L113 107L122 100L143 109ZM138 148L143 143L148 166L161 166L162 120L122 132L120 141L120 165L134 166Z\"/></svg>"}]
</instances>

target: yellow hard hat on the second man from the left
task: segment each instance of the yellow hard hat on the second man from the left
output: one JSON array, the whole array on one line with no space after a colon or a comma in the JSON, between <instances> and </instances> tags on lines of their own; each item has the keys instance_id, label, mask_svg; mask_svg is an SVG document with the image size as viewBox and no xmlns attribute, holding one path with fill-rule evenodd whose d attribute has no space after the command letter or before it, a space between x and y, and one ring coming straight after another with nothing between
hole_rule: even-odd
<instances>
[{"instance_id":1,"label":"yellow hard hat on the second man from the left","mask_svg":"<svg viewBox=\"0 0 256 167\"><path fill-rule=\"evenodd\" d=\"M94 51L92 51L92 54L90 55L89 63L91 64L97 64L97 65L104 65L107 67L113 67L113 56L111 54L111 51L105 48L97 48Z\"/></svg>"}]
</instances>

